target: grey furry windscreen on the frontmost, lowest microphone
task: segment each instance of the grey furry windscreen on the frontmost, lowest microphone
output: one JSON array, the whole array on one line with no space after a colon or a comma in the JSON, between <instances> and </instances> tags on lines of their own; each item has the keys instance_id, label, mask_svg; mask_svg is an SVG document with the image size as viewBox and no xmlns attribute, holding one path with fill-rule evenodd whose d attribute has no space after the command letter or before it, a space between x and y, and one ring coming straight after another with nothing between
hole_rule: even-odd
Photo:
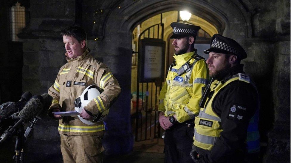
<instances>
[{"instance_id":1,"label":"grey furry windscreen on the frontmost, lowest microphone","mask_svg":"<svg viewBox=\"0 0 291 163\"><path fill-rule=\"evenodd\" d=\"M27 102L24 108L19 112L18 118L23 118L26 123L31 121L36 115L41 113L43 105L40 99L32 98Z\"/></svg>"}]
</instances>

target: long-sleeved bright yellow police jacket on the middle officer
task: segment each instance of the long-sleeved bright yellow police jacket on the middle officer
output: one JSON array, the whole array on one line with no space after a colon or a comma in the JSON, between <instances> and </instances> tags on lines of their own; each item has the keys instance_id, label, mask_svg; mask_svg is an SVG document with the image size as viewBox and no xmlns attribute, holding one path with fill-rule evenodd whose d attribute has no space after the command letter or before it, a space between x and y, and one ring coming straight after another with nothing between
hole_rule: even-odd
<instances>
[{"instance_id":1,"label":"long-sleeved bright yellow police jacket on the middle officer","mask_svg":"<svg viewBox=\"0 0 291 163\"><path fill-rule=\"evenodd\" d=\"M159 111L165 116L176 114L179 123L194 118L199 113L199 101L202 97L202 87L208 84L208 68L204 59L194 61L191 70L178 76L177 69L182 67L191 56L196 56L196 50L190 53L175 55L176 65L167 75L165 84L160 91Z\"/></svg>"}]
</instances>

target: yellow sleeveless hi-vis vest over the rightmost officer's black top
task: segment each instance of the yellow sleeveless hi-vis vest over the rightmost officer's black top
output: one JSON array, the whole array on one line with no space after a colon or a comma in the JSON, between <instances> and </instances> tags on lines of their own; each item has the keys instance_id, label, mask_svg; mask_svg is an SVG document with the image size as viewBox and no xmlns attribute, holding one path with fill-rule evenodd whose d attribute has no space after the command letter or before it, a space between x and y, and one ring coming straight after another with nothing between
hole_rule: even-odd
<instances>
[{"instance_id":1,"label":"yellow sleeveless hi-vis vest over the rightmost officer's black top","mask_svg":"<svg viewBox=\"0 0 291 163\"><path fill-rule=\"evenodd\" d=\"M201 108L198 117L195 118L193 144L196 147L211 150L217 138L220 137L220 133L222 132L221 118L213 111L211 104L219 91L235 80L251 83L256 88L250 78L242 73L232 76L225 83L215 80L210 86L211 91L214 91L213 95L210 99L207 98L208 102L206 106Z\"/></svg>"}]
</instances>

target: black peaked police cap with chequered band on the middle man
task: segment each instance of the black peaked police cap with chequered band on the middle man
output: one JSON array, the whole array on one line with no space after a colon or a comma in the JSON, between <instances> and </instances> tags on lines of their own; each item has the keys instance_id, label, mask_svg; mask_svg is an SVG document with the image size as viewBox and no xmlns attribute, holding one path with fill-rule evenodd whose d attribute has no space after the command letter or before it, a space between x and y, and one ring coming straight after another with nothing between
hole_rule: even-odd
<instances>
[{"instance_id":1,"label":"black peaked police cap with chequered band on the middle man","mask_svg":"<svg viewBox=\"0 0 291 163\"><path fill-rule=\"evenodd\" d=\"M199 26L178 22L171 23L171 27L173 28L173 35L170 37L170 39L178 39L187 36L195 37L200 29Z\"/></svg>"}]
</instances>

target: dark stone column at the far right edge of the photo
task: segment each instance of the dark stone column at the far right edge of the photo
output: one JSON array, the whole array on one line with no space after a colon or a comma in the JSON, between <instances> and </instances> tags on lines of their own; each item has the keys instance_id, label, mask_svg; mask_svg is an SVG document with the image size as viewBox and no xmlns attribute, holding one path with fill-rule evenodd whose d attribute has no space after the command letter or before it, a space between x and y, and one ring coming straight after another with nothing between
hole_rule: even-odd
<instances>
[{"instance_id":1,"label":"dark stone column at the far right edge of the photo","mask_svg":"<svg viewBox=\"0 0 291 163\"><path fill-rule=\"evenodd\" d=\"M273 69L274 126L264 162L290 162L290 41L275 43Z\"/></svg>"}]
</instances>

